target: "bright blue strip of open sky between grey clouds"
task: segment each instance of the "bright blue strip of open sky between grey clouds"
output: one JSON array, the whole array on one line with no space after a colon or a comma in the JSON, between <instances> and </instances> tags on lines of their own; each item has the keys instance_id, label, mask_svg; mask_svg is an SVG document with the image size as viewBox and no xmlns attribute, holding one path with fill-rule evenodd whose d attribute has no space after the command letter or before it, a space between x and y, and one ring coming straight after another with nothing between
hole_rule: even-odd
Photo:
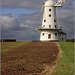
<instances>
[{"instance_id":1,"label":"bright blue strip of open sky between grey clouds","mask_svg":"<svg viewBox=\"0 0 75 75\"><path fill-rule=\"evenodd\" d=\"M39 12L39 10L27 10L27 9L1 9L1 15L12 14L15 17L19 16L20 14L33 14Z\"/></svg>"}]
</instances>

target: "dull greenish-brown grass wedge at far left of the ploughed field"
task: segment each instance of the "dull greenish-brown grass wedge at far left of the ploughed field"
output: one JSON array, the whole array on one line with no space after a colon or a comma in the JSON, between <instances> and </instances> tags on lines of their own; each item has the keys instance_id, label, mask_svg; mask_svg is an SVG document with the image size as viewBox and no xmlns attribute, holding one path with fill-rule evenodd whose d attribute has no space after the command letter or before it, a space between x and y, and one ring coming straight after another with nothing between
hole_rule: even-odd
<instances>
[{"instance_id":1,"label":"dull greenish-brown grass wedge at far left of the ploughed field","mask_svg":"<svg viewBox=\"0 0 75 75\"><path fill-rule=\"evenodd\" d=\"M14 48L18 48L28 42L1 42L1 51L7 52Z\"/></svg>"}]
</instances>

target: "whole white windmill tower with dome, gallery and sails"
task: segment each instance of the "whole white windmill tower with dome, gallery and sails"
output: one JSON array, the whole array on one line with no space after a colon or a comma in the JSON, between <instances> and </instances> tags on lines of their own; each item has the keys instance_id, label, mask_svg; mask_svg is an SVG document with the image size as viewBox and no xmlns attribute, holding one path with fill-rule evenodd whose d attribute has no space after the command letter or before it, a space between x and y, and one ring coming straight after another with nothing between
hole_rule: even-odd
<instances>
[{"instance_id":1,"label":"whole white windmill tower with dome, gallery and sails","mask_svg":"<svg viewBox=\"0 0 75 75\"><path fill-rule=\"evenodd\" d=\"M59 31L62 30L57 25L56 7L61 7L65 0L46 0L41 8L43 10L42 27L36 28L40 31L40 41L59 41Z\"/></svg>"}]
</instances>

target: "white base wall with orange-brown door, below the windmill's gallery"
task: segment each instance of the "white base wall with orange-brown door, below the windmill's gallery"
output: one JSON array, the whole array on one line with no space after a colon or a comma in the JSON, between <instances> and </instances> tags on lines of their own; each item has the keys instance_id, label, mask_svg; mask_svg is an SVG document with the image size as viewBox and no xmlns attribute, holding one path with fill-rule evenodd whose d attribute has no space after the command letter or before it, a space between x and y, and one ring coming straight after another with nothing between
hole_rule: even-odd
<instances>
[{"instance_id":1,"label":"white base wall with orange-brown door, below the windmill's gallery","mask_svg":"<svg viewBox=\"0 0 75 75\"><path fill-rule=\"evenodd\" d=\"M43 35L44 34L44 35ZM51 38L49 38L49 34L51 34ZM55 35L57 34L57 35ZM59 33L58 31L48 31L48 30L44 30L44 31L41 31L40 33L40 41L58 41L59 40Z\"/></svg>"}]
</instances>

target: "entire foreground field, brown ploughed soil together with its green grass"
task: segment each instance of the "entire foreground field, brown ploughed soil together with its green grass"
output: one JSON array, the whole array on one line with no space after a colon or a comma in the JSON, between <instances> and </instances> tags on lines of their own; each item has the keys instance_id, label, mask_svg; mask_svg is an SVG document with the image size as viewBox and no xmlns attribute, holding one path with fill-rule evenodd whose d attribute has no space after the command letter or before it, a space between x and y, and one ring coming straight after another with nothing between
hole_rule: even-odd
<instances>
[{"instance_id":1,"label":"entire foreground field, brown ploughed soil together with its green grass","mask_svg":"<svg viewBox=\"0 0 75 75\"><path fill-rule=\"evenodd\" d=\"M2 42L2 75L74 75L73 42Z\"/></svg>"}]
</instances>

